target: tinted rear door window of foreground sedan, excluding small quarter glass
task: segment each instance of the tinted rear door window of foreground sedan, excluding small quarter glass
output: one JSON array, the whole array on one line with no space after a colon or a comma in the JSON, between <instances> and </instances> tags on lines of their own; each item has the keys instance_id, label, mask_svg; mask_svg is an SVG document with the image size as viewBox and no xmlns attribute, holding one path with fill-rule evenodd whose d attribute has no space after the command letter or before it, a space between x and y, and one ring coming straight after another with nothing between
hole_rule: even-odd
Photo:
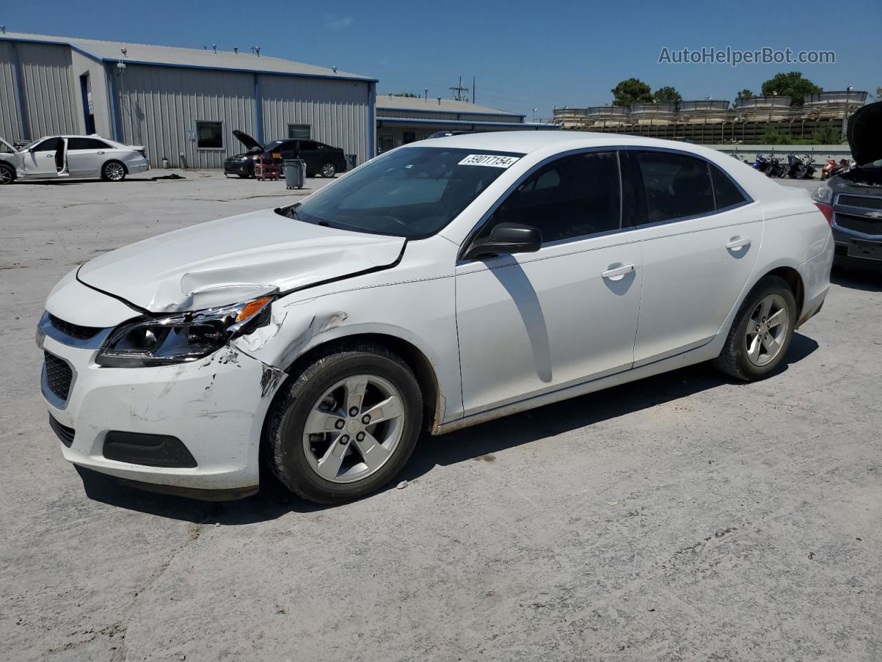
<instances>
[{"instance_id":1,"label":"tinted rear door window of foreground sedan, excluding small quarter glass","mask_svg":"<svg viewBox=\"0 0 882 662\"><path fill-rule=\"evenodd\" d=\"M685 154L637 152L647 222L708 214L716 210L708 163Z\"/></svg>"}]
</instances>

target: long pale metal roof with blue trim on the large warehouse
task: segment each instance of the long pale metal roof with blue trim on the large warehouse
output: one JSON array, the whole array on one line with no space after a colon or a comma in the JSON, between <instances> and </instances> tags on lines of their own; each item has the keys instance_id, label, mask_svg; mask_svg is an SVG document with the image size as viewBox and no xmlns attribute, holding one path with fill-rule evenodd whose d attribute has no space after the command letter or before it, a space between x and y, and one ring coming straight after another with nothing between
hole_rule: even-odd
<instances>
[{"instance_id":1,"label":"long pale metal roof with blue trim on the large warehouse","mask_svg":"<svg viewBox=\"0 0 882 662\"><path fill-rule=\"evenodd\" d=\"M71 46L72 49L96 60L129 64L159 64L195 69L223 69L230 71L255 71L280 73L292 76L313 76L328 79L376 80L368 76L345 71L333 71L314 64L303 64L280 57L257 56L245 49L239 53L232 50L181 49L174 46L152 46L123 41L99 41L77 37L53 37L45 34L4 33L0 40L38 41ZM126 50L123 56L123 49Z\"/></svg>"}]
</instances>

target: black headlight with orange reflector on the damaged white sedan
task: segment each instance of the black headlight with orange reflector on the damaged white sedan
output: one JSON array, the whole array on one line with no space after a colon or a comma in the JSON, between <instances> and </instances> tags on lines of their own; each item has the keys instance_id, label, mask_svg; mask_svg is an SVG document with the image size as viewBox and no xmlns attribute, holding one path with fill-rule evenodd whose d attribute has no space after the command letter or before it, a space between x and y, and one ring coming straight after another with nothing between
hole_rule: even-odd
<instances>
[{"instance_id":1,"label":"black headlight with orange reflector on the damaged white sedan","mask_svg":"<svg viewBox=\"0 0 882 662\"><path fill-rule=\"evenodd\" d=\"M95 363L116 368L196 361L220 350L236 335L250 333L270 318L273 297L174 315L144 316L121 324L108 336Z\"/></svg>"}]
</instances>

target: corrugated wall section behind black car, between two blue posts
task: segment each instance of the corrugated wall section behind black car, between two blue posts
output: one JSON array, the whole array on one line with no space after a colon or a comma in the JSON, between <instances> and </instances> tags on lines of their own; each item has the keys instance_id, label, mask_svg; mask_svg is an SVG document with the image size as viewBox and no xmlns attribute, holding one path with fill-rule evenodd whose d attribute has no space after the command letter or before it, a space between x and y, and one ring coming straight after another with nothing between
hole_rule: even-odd
<instances>
[{"instance_id":1,"label":"corrugated wall section behind black car, between two blue posts","mask_svg":"<svg viewBox=\"0 0 882 662\"><path fill-rule=\"evenodd\" d=\"M310 124L312 138L368 159L368 82L261 75L264 139L288 138L288 124Z\"/></svg>"}]
</instances>

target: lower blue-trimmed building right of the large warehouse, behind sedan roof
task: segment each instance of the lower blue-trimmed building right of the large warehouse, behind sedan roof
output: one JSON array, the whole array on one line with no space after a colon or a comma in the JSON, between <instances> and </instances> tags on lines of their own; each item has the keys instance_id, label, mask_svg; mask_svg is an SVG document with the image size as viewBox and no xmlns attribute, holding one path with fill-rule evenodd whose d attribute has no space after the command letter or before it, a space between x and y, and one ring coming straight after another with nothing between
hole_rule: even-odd
<instances>
[{"instance_id":1,"label":"lower blue-trimmed building right of the large warehouse, behind sedan roof","mask_svg":"<svg viewBox=\"0 0 882 662\"><path fill-rule=\"evenodd\" d=\"M440 131L520 131L557 129L555 124L525 122L526 116L449 99L377 97L380 152L422 140Z\"/></svg>"}]
</instances>

